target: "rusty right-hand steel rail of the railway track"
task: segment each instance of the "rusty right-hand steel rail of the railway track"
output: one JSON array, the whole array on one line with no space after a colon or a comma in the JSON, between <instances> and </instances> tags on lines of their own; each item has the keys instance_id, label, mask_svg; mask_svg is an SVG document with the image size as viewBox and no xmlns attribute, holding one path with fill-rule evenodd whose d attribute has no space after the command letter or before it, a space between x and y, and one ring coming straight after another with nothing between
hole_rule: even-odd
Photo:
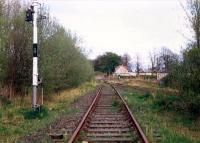
<instances>
[{"instance_id":1,"label":"rusty right-hand steel rail of the railway track","mask_svg":"<svg viewBox=\"0 0 200 143\"><path fill-rule=\"evenodd\" d=\"M110 85L111 85L111 84L110 84ZM135 128L136 128L136 130L137 130L139 136L140 136L141 139L142 139L142 142L143 142L143 143L149 143L147 137L145 136L145 134L144 134L143 130L141 129L139 123L137 122L137 120L136 120L135 117L133 116L133 114L132 114L130 108L128 107L128 105L127 105L127 103L126 103L126 101L122 98L122 96L121 96L120 93L117 91L117 89L116 89L113 85L111 85L111 86L113 87L113 89L115 90L115 92L117 93L117 95L120 97L120 99L123 101L124 106L125 106L127 112L129 113L129 115L130 115L130 117L131 117L131 120L132 120L132 122L134 123L134 126L135 126Z\"/></svg>"}]
</instances>

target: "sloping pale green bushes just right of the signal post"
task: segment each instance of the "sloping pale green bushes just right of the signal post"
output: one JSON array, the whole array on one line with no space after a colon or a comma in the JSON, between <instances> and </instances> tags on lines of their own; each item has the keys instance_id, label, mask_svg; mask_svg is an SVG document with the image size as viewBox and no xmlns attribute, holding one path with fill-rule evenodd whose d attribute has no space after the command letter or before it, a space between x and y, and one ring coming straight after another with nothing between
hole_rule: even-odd
<instances>
[{"instance_id":1,"label":"sloping pale green bushes just right of the signal post","mask_svg":"<svg viewBox=\"0 0 200 143\"><path fill-rule=\"evenodd\" d=\"M43 43L40 69L47 92L77 86L92 78L92 66L75 44L72 35L60 26Z\"/></svg>"}]
</instances>

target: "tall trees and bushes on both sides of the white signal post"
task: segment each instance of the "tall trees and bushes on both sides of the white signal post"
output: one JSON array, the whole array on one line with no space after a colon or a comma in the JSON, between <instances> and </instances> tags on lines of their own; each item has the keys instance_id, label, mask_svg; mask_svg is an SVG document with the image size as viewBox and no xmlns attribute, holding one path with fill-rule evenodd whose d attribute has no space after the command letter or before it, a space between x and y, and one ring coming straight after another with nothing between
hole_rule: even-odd
<instances>
[{"instance_id":1,"label":"tall trees and bushes on both sides of the white signal post","mask_svg":"<svg viewBox=\"0 0 200 143\"><path fill-rule=\"evenodd\" d=\"M19 0L0 1L0 94L23 95L32 83L32 24L25 21L27 6ZM41 13L49 15L42 8ZM39 74L44 91L77 86L92 78L93 68L78 37L55 19L39 24Z\"/></svg>"}]
</instances>

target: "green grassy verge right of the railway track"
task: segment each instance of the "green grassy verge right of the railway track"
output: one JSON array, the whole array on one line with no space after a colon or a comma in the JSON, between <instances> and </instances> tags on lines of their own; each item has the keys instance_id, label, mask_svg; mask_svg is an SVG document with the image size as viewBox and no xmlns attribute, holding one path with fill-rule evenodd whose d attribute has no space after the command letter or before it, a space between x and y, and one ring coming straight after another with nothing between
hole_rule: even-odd
<instances>
[{"instance_id":1,"label":"green grassy verge right of the railway track","mask_svg":"<svg viewBox=\"0 0 200 143\"><path fill-rule=\"evenodd\" d=\"M186 114L156 108L150 93L126 91L123 95L150 142L200 143L198 120Z\"/></svg>"}]
</instances>

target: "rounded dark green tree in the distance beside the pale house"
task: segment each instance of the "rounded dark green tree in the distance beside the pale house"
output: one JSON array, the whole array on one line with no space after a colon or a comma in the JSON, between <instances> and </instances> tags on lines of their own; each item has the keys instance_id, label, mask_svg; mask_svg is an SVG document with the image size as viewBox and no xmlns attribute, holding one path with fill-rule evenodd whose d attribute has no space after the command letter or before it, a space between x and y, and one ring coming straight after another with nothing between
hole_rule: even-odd
<instances>
[{"instance_id":1,"label":"rounded dark green tree in the distance beside the pale house","mask_svg":"<svg viewBox=\"0 0 200 143\"><path fill-rule=\"evenodd\" d=\"M113 73L115 71L115 67L121 63L121 56L112 52L107 52L95 59L94 69L95 71L101 71L109 75Z\"/></svg>"}]
</instances>

